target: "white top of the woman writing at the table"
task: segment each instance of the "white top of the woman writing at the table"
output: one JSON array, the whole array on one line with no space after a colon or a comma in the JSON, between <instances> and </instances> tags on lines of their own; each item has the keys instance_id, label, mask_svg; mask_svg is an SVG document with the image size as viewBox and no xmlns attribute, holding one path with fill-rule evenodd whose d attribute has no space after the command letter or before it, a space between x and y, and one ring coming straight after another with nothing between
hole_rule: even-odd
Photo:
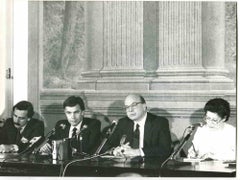
<instances>
[{"instance_id":1,"label":"white top of the woman writing at the table","mask_svg":"<svg viewBox=\"0 0 240 180\"><path fill-rule=\"evenodd\" d=\"M227 123L223 123L219 129L199 127L192 143L193 146L188 151L189 157L201 157L211 153L212 157L218 160L236 158L236 129Z\"/></svg>"}]
</instances>

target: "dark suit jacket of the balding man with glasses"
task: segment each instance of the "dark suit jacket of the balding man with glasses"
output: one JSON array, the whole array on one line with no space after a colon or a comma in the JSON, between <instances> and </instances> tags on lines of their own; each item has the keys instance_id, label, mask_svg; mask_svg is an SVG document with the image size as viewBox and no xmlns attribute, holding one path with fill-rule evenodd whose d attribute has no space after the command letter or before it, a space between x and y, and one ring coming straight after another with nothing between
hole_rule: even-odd
<instances>
[{"instance_id":1,"label":"dark suit jacket of the balding man with glasses","mask_svg":"<svg viewBox=\"0 0 240 180\"><path fill-rule=\"evenodd\" d=\"M128 117L118 121L117 127L106 143L105 150L119 146L120 139L127 135L126 142L133 141L134 122ZM171 136L168 120L151 113L147 113L144 127L144 147L143 152L146 157L158 156L168 157L171 153Z\"/></svg>"}]
</instances>

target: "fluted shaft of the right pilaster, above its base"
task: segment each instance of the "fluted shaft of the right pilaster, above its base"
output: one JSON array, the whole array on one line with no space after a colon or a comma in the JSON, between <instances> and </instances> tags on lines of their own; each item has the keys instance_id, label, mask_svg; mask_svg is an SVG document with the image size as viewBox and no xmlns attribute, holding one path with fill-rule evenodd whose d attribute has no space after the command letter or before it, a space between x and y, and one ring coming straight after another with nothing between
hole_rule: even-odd
<instances>
[{"instance_id":1,"label":"fluted shaft of the right pilaster, above its base","mask_svg":"<svg viewBox=\"0 0 240 180\"><path fill-rule=\"evenodd\" d=\"M159 2L159 69L202 66L201 2Z\"/></svg>"}]
</instances>

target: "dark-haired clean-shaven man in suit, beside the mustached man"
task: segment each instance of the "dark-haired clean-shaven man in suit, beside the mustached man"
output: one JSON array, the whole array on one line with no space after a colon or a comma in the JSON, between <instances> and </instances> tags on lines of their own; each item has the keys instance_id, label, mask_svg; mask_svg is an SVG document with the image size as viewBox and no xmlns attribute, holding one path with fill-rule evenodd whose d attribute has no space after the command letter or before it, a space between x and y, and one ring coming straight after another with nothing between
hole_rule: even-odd
<instances>
[{"instance_id":1,"label":"dark-haired clean-shaven man in suit, beside the mustached man","mask_svg":"<svg viewBox=\"0 0 240 180\"><path fill-rule=\"evenodd\" d=\"M71 138L71 146L75 151L93 154L100 141L100 121L84 117L85 106L80 97L68 97L63 103L63 108L67 119L56 123L55 133L50 139ZM45 144L40 152L50 154L50 144L51 142Z\"/></svg>"}]
</instances>

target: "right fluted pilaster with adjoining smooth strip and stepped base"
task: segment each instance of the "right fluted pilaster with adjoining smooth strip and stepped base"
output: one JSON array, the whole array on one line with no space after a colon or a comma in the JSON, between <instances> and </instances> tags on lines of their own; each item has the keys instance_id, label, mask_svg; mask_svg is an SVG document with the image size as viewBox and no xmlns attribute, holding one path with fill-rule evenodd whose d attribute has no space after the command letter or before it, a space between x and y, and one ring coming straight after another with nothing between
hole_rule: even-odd
<instances>
[{"instance_id":1,"label":"right fluted pilaster with adjoining smooth strip and stepped base","mask_svg":"<svg viewBox=\"0 0 240 180\"><path fill-rule=\"evenodd\" d=\"M223 2L159 2L158 79L150 89L233 89L224 44Z\"/></svg>"}]
</instances>

